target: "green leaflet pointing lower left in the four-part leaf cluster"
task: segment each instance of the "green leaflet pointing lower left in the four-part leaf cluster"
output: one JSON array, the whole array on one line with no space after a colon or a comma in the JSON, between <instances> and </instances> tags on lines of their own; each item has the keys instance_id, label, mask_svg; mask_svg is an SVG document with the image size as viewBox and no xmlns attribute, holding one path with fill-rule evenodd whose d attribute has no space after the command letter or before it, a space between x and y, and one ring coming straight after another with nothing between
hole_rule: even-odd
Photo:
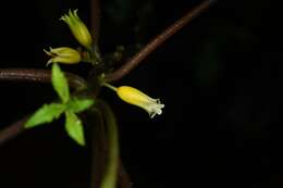
<instances>
[{"instance_id":1,"label":"green leaflet pointing lower left in the four-part leaf cluster","mask_svg":"<svg viewBox=\"0 0 283 188\"><path fill-rule=\"evenodd\" d=\"M59 103L44 104L25 123L25 128L32 128L40 124L50 123L54 118L58 118L63 113L64 110L65 110L64 104L59 104Z\"/></svg>"}]
</instances>

